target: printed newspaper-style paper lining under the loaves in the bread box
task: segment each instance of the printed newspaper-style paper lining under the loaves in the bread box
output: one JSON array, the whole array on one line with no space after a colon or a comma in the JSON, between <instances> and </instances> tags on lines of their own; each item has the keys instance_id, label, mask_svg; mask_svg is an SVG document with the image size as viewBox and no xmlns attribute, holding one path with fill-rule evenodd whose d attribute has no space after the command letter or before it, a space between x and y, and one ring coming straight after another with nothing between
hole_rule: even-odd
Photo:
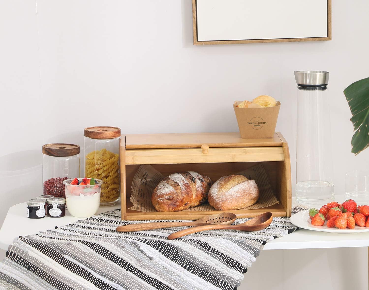
<instances>
[{"instance_id":1,"label":"printed newspaper-style paper lining under the loaves in the bread box","mask_svg":"<svg viewBox=\"0 0 369 290\"><path fill-rule=\"evenodd\" d=\"M272 206L273 204L279 203L279 201L275 197L275 194L273 193L272 186L269 182L269 177L266 174L264 166L262 164L255 165L237 174L243 175L248 179L254 179L259 187L259 200L254 205L247 207L248 210L268 207ZM151 194L158 183L164 178L165 176L163 176L151 165L141 165L132 181L132 194L130 200L133 206L130 207L130 210L138 210L145 213L156 212L154 206L151 203ZM215 181L216 180L213 180L213 182ZM183 211L210 210L215 209L208 203L204 203Z\"/></svg>"}]
</instances>

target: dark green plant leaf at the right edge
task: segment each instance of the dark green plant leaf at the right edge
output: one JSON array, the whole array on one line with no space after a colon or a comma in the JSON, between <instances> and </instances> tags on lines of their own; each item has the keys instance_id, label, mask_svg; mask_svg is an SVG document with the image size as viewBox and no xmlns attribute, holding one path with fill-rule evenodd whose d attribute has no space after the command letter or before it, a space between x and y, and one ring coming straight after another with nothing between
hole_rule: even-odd
<instances>
[{"instance_id":1,"label":"dark green plant leaf at the right edge","mask_svg":"<svg viewBox=\"0 0 369 290\"><path fill-rule=\"evenodd\" d=\"M356 130L351 139L351 152L358 155L369 146L369 77L350 84L344 94L352 114L350 120Z\"/></svg>"}]
</instances>

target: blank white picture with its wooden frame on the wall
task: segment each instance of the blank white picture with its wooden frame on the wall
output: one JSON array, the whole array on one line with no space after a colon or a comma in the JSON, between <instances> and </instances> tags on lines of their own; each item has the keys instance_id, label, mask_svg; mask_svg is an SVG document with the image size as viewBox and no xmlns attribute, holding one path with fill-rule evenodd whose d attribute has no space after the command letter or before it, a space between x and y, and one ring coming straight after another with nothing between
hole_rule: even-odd
<instances>
[{"instance_id":1,"label":"blank white picture with its wooden frame on the wall","mask_svg":"<svg viewBox=\"0 0 369 290\"><path fill-rule=\"evenodd\" d=\"M193 43L331 40L331 0L192 0Z\"/></svg>"}]
</instances>

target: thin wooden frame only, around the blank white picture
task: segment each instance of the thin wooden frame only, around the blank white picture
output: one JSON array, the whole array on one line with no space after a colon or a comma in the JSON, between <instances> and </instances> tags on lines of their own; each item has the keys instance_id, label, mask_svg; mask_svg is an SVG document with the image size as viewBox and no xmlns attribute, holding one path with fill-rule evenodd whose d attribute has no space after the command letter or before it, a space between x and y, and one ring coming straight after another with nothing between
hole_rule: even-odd
<instances>
[{"instance_id":1,"label":"thin wooden frame only, around the blank white picture","mask_svg":"<svg viewBox=\"0 0 369 290\"><path fill-rule=\"evenodd\" d=\"M331 0L327 1L327 37L303 37L303 38L263 38L263 39L231 39L231 40L199 40L198 35L198 19L197 19L197 1L192 0L192 16L193 16L193 44L209 45L209 44L245 44L245 43L262 43L262 42L294 42L294 41L327 41L332 37L332 21L331 21ZM201 0L200 0L201 1ZM323 0L321 0L323 1ZM324 14L323 14L324 15Z\"/></svg>"}]
</instances>

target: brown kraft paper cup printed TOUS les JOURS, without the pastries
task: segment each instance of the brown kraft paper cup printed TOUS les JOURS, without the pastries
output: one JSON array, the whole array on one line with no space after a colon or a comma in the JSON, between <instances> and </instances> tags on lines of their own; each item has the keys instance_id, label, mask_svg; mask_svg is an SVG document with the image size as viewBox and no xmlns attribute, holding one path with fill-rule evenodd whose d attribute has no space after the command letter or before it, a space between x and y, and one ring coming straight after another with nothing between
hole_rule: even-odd
<instances>
[{"instance_id":1,"label":"brown kraft paper cup printed TOUS les JOURS, without the pastries","mask_svg":"<svg viewBox=\"0 0 369 290\"><path fill-rule=\"evenodd\" d=\"M269 108L238 108L233 104L241 138L272 138L277 125L280 102Z\"/></svg>"}]
</instances>

